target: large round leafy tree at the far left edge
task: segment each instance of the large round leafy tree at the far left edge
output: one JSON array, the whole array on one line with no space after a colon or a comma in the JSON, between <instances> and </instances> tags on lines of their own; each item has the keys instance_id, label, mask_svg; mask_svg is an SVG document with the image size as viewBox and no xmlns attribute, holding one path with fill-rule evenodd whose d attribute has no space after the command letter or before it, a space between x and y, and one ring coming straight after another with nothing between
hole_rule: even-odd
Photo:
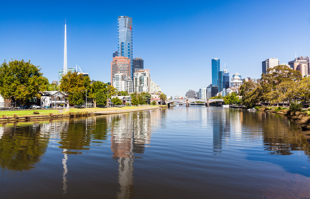
<instances>
[{"instance_id":1,"label":"large round leafy tree at the far left edge","mask_svg":"<svg viewBox=\"0 0 310 199\"><path fill-rule=\"evenodd\" d=\"M46 78L40 73L41 68L24 60L4 61L0 65L0 95L24 105L40 92L46 90Z\"/></svg>"}]
</instances>

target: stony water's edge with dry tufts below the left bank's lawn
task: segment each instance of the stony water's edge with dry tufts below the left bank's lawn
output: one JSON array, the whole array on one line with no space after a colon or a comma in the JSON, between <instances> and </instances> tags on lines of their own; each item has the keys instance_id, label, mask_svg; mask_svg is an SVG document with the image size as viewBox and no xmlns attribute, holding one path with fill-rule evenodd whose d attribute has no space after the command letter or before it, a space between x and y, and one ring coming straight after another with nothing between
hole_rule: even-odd
<instances>
[{"instance_id":1,"label":"stony water's edge with dry tufts below the left bank's lawn","mask_svg":"<svg viewBox=\"0 0 310 199\"><path fill-rule=\"evenodd\" d=\"M163 108L161 106L132 106L131 108L122 109L119 107L114 108L86 108L86 110L80 109L70 109L64 113L40 113L40 114L23 114L23 111L18 111L17 114L6 115L5 112L0 112L0 122L16 122L16 121L29 121L29 120L43 120L43 119L57 119L57 118L66 118L66 117L81 117L81 116L95 116L95 115L104 115L104 114L117 114L117 113L128 113L135 111L143 111L148 109ZM40 112L40 110L38 111ZM2 116L1 116L2 115Z\"/></svg>"}]
</instances>

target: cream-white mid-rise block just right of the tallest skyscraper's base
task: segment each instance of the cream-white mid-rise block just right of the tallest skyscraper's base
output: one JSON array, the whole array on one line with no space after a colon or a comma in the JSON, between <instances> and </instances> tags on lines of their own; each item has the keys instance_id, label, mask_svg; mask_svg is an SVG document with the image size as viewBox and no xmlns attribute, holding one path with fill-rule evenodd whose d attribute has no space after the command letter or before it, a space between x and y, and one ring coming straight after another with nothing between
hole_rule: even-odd
<instances>
[{"instance_id":1,"label":"cream-white mid-rise block just right of the tallest skyscraper's base","mask_svg":"<svg viewBox=\"0 0 310 199\"><path fill-rule=\"evenodd\" d=\"M149 69L140 70L134 73L134 92L149 92L150 91L150 71Z\"/></svg>"}]
</instances>

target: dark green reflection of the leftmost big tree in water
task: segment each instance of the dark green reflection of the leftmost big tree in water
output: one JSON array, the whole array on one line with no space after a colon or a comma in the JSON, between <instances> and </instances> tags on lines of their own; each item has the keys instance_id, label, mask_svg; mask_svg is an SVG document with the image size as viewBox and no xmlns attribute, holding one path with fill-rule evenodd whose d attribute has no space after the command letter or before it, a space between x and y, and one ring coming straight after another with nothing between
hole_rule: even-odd
<instances>
[{"instance_id":1,"label":"dark green reflection of the leftmost big tree in water","mask_svg":"<svg viewBox=\"0 0 310 199\"><path fill-rule=\"evenodd\" d=\"M46 152L48 138L40 136L40 126L32 123L5 128L0 139L0 164L3 169L22 171L34 168Z\"/></svg>"}]
</instances>

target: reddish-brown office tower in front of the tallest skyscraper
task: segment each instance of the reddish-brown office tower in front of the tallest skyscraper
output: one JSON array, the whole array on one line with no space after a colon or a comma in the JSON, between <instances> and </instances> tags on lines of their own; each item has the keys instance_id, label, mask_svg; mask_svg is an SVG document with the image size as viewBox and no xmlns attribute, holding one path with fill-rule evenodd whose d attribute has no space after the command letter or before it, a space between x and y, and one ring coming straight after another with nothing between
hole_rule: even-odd
<instances>
[{"instance_id":1,"label":"reddish-brown office tower in front of the tallest skyscraper","mask_svg":"<svg viewBox=\"0 0 310 199\"><path fill-rule=\"evenodd\" d=\"M117 73L122 73L130 77L130 59L127 57L113 57L111 61L111 83L113 85L114 75Z\"/></svg>"}]
</instances>

